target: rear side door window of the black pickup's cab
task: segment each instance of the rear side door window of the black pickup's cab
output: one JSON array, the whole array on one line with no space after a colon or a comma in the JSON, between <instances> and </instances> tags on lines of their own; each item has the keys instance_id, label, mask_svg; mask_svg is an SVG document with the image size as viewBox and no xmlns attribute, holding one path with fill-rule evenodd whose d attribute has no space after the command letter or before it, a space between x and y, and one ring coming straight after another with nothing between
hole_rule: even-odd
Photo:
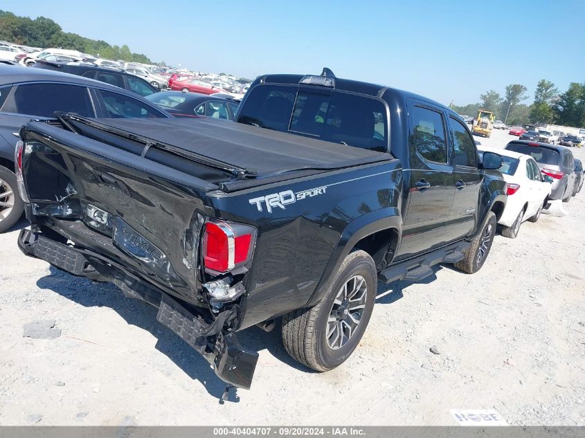
<instances>
[{"instance_id":1,"label":"rear side door window of the black pickup's cab","mask_svg":"<svg viewBox=\"0 0 585 438\"><path fill-rule=\"evenodd\" d=\"M447 142L442 114L423 107L411 108L408 143L426 161L447 163Z\"/></svg>"}]
</instances>

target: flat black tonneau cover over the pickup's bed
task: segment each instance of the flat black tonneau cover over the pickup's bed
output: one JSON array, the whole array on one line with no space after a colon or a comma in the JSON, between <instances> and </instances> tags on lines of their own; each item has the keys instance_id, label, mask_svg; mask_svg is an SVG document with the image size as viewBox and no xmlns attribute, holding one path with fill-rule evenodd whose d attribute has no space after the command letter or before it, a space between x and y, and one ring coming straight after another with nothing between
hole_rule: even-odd
<instances>
[{"instance_id":1,"label":"flat black tonneau cover over the pickup's bed","mask_svg":"<svg viewBox=\"0 0 585 438\"><path fill-rule=\"evenodd\" d=\"M92 122L241 167L258 176L335 170L392 159L390 154L243 125L228 120L123 118Z\"/></svg>"}]
</instances>

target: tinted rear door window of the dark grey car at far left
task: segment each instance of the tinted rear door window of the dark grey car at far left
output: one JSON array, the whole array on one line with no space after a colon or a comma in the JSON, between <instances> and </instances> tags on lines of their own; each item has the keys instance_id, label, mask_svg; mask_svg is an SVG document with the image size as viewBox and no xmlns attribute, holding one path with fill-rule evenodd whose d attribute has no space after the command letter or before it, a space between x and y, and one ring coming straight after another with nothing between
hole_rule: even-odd
<instances>
[{"instance_id":1,"label":"tinted rear door window of the dark grey car at far left","mask_svg":"<svg viewBox=\"0 0 585 438\"><path fill-rule=\"evenodd\" d=\"M13 98L6 101L3 111L48 118L54 117L55 111L96 116L87 87L66 84L19 85Z\"/></svg>"}]
</instances>

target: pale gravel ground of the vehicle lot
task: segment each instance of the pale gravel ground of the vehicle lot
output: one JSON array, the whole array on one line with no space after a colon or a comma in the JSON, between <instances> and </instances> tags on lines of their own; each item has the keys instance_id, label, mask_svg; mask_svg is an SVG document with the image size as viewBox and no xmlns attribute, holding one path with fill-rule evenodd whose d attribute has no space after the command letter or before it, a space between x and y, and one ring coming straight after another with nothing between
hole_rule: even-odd
<instances>
[{"instance_id":1,"label":"pale gravel ground of the vehicle lot","mask_svg":"<svg viewBox=\"0 0 585 438\"><path fill-rule=\"evenodd\" d=\"M451 409L495 409L509 424L583 425L585 190L567 208L496 236L476 275L445 265L381 285L361 345L331 372L294 363L280 329L244 331L260 352L252 390L223 405L222 382L156 309L24 257L15 228L0 235L0 424L454 425ZM33 321L51 338L24 337Z\"/></svg>"}]
</instances>

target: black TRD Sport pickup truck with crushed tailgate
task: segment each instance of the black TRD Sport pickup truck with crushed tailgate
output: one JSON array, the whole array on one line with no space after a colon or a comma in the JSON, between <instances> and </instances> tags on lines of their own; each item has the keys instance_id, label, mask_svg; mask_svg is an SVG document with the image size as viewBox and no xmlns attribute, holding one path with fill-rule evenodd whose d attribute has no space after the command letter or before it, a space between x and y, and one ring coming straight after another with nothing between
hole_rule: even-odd
<instances>
[{"instance_id":1,"label":"black TRD Sport pickup truck with crushed tailgate","mask_svg":"<svg viewBox=\"0 0 585 438\"><path fill-rule=\"evenodd\" d=\"M481 268L506 202L447 107L386 86L265 75L222 120L28 122L17 148L26 254L159 308L158 320L249 388L236 331L282 316L289 354L345 361L377 282Z\"/></svg>"}]
</instances>

